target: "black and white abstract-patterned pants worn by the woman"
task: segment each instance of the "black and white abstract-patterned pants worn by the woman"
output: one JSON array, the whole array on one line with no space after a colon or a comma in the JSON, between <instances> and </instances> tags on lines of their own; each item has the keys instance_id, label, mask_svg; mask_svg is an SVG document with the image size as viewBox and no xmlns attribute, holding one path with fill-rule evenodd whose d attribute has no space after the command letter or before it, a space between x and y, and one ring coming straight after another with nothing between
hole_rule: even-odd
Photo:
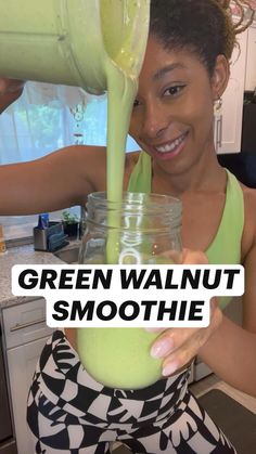
<instances>
[{"instance_id":1,"label":"black and white abstract-patterned pants worn by the woman","mask_svg":"<svg viewBox=\"0 0 256 454\"><path fill-rule=\"evenodd\" d=\"M43 348L28 395L35 453L234 454L188 390L189 369L144 389L104 387L84 369L61 330Z\"/></svg>"}]
</instances>

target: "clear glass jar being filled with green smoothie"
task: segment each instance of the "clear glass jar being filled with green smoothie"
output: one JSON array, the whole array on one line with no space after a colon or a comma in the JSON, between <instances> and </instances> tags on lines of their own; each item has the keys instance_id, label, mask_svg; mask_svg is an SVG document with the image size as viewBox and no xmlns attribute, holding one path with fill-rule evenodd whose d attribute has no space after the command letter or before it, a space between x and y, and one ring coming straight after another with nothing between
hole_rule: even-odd
<instances>
[{"instance_id":1,"label":"clear glass jar being filled with green smoothie","mask_svg":"<svg viewBox=\"0 0 256 454\"><path fill-rule=\"evenodd\" d=\"M105 193L88 197L79 263L161 264L181 259L181 202L142 193L124 193L121 203ZM158 336L144 328L79 328L81 363L99 382L139 389L161 378L162 361L150 354Z\"/></svg>"}]
</instances>

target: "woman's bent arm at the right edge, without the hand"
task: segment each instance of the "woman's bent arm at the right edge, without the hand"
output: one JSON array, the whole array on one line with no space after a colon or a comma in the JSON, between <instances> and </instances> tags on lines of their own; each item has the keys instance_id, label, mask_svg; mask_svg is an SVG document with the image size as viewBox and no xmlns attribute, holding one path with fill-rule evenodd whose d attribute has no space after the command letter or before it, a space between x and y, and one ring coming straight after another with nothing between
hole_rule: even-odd
<instances>
[{"instance_id":1,"label":"woman's bent arm at the right edge, without the hand","mask_svg":"<svg viewBox=\"0 0 256 454\"><path fill-rule=\"evenodd\" d=\"M223 317L199 354L225 381L256 397L256 241L244 268L243 328Z\"/></svg>"}]
</instances>

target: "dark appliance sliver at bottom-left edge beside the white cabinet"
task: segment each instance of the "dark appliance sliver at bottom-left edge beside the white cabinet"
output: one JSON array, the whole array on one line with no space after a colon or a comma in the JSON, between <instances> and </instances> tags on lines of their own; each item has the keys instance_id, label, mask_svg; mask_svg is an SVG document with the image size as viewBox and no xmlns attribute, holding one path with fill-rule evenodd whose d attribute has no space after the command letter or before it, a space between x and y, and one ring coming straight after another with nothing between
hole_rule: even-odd
<instances>
[{"instance_id":1,"label":"dark appliance sliver at bottom-left edge beside the white cabinet","mask_svg":"<svg viewBox=\"0 0 256 454\"><path fill-rule=\"evenodd\" d=\"M0 325L0 454L17 454L13 437Z\"/></svg>"}]
</instances>

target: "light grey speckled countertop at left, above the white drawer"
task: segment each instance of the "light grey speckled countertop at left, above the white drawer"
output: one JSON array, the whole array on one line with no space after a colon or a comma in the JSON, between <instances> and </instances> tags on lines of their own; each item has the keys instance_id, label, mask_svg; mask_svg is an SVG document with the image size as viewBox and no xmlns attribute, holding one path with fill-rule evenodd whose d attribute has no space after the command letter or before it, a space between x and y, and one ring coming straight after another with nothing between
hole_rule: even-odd
<instances>
[{"instance_id":1,"label":"light grey speckled countertop at left, above the white drawer","mask_svg":"<svg viewBox=\"0 0 256 454\"><path fill-rule=\"evenodd\" d=\"M66 248L74 247L69 244ZM14 264L57 264L63 263L51 252L35 251L34 245L12 247L0 255L0 310L21 304L35 299L35 297L16 297L11 291L11 269Z\"/></svg>"}]
</instances>

